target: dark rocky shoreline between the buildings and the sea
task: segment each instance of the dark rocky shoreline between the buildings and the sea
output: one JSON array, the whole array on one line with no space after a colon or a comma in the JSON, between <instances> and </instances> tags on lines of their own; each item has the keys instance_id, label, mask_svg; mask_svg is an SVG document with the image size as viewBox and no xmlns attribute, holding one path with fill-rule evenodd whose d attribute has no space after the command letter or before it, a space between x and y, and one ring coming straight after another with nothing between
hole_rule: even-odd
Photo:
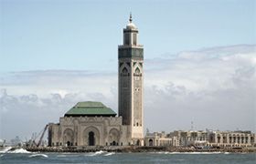
<instances>
[{"instance_id":1,"label":"dark rocky shoreline between the buildings and the sea","mask_svg":"<svg viewBox=\"0 0 256 164\"><path fill-rule=\"evenodd\" d=\"M243 149L192 149L178 147L101 147L101 148L53 148L53 147L38 147L25 148L31 152L75 152L86 153L96 151L106 152L230 152L230 153L256 153L256 148Z\"/></svg>"}]
</instances>

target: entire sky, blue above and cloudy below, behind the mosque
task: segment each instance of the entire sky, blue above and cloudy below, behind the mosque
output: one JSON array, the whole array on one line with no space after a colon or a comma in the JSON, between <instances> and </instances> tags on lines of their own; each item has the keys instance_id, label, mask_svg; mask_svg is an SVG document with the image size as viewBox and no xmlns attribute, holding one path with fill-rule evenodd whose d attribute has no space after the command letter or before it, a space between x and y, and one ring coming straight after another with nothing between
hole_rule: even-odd
<instances>
[{"instance_id":1,"label":"entire sky, blue above and cloudy below, behind the mosque","mask_svg":"<svg viewBox=\"0 0 256 164\"><path fill-rule=\"evenodd\" d=\"M118 113L118 45L144 45L144 128L256 132L256 2L0 1L0 138L29 139L80 101ZM144 129L144 130L145 130Z\"/></svg>"}]
</instances>

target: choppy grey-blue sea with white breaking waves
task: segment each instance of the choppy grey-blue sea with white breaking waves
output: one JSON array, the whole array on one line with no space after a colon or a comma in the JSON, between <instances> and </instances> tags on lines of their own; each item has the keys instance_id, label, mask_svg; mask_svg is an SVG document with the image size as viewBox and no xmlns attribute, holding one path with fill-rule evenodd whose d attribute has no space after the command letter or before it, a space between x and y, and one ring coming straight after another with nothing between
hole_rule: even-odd
<instances>
[{"instance_id":1,"label":"choppy grey-blue sea with white breaking waves","mask_svg":"<svg viewBox=\"0 0 256 164\"><path fill-rule=\"evenodd\" d=\"M254 153L222 152L147 152L147 153L114 153L97 151L93 153L39 153L26 149L5 148L0 150L0 163L142 163L142 164L255 164Z\"/></svg>"}]
</instances>

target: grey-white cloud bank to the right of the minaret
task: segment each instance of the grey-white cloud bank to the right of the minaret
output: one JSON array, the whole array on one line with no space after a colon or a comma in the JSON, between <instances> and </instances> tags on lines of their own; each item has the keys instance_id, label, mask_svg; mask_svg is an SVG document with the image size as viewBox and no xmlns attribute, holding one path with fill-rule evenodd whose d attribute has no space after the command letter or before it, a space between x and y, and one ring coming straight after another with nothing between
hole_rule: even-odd
<instances>
[{"instance_id":1,"label":"grey-white cloud bank to the right of the minaret","mask_svg":"<svg viewBox=\"0 0 256 164\"><path fill-rule=\"evenodd\" d=\"M189 129L194 121L197 129L255 132L255 47L213 47L146 60L145 122L157 116L155 122L167 131ZM157 125L153 130L159 131Z\"/></svg>"}]
</instances>

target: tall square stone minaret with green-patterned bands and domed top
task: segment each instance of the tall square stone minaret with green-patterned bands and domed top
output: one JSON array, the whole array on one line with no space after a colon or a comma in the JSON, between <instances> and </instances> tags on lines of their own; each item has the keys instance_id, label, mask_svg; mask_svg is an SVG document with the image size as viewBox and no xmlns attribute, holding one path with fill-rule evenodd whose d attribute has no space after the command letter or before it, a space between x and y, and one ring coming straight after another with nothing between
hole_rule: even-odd
<instances>
[{"instance_id":1,"label":"tall square stone minaret with green-patterned bands and domed top","mask_svg":"<svg viewBox=\"0 0 256 164\"><path fill-rule=\"evenodd\" d=\"M131 144L144 145L144 46L138 45L138 29L130 15L118 46L118 111L123 125L130 125Z\"/></svg>"}]
</instances>

